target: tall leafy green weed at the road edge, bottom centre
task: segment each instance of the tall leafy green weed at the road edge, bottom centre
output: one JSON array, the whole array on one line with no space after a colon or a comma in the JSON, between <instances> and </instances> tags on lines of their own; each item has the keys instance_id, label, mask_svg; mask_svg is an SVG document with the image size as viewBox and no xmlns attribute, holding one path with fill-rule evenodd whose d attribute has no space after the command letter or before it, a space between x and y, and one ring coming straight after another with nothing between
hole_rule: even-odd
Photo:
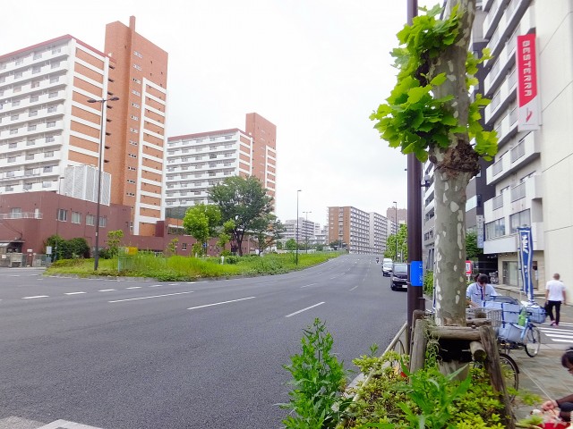
<instances>
[{"instance_id":1,"label":"tall leafy green weed at the road edge, bottom centre","mask_svg":"<svg viewBox=\"0 0 573 429\"><path fill-rule=\"evenodd\" d=\"M343 364L331 353L332 336L318 318L304 330L301 344L302 354L291 356L291 364L283 366L293 375L294 389L281 408L292 409L295 416L282 423L297 429L333 428L350 403L341 399L346 383Z\"/></svg>"}]
</instances>

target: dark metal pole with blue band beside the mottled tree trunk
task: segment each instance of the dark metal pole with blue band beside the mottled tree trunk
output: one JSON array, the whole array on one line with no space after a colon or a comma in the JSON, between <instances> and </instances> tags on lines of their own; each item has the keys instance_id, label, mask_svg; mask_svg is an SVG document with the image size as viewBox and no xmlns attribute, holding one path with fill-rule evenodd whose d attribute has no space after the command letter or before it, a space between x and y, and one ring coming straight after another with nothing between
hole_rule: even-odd
<instances>
[{"instance_id":1,"label":"dark metal pole with blue band beside the mottled tree trunk","mask_svg":"<svg viewBox=\"0 0 573 429\"><path fill-rule=\"evenodd\" d=\"M418 14L418 1L407 0L407 23L412 25ZM412 286L412 265L421 265L422 261L422 163L415 154L407 155L407 189L408 189L408 288L407 288L407 347L409 349L414 310L425 309L423 288ZM416 280L417 283L417 280Z\"/></svg>"}]
</instances>

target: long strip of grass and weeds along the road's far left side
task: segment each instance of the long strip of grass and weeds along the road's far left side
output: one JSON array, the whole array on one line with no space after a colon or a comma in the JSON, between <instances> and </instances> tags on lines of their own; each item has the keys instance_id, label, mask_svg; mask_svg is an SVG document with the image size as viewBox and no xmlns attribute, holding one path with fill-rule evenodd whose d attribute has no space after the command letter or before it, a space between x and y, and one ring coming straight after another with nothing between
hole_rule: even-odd
<instances>
[{"instance_id":1,"label":"long strip of grass and weeds along the road's far left side","mask_svg":"<svg viewBox=\"0 0 573 429\"><path fill-rule=\"evenodd\" d=\"M140 252L135 257L122 259L119 271L118 260L115 257L99 259L97 272L93 269L93 259L65 259L51 265L46 273L48 275L75 274L80 277L91 275L151 277L164 282L190 282L204 278L288 273L321 264L340 255L339 252L299 253L298 265L296 265L293 253L269 254L264 257L226 257L225 264L221 264L220 257L156 257L150 253Z\"/></svg>"}]
</instances>

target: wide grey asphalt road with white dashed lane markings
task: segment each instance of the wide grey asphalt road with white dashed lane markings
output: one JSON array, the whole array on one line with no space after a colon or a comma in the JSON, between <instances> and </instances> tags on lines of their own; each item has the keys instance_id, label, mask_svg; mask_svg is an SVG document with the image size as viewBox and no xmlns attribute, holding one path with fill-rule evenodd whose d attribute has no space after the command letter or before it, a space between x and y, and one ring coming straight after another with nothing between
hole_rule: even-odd
<instances>
[{"instance_id":1,"label":"wide grey asphalt road with white dashed lane markings","mask_svg":"<svg viewBox=\"0 0 573 429\"><path fill-rule=\"evenodd\" d=\"M326 321L347 369L406 320L373 256L209 282L0 269L0 420L105 429L278 428L302 330ZM354 376L351 374L349 378Z\"/></svg>"}]
</instances>

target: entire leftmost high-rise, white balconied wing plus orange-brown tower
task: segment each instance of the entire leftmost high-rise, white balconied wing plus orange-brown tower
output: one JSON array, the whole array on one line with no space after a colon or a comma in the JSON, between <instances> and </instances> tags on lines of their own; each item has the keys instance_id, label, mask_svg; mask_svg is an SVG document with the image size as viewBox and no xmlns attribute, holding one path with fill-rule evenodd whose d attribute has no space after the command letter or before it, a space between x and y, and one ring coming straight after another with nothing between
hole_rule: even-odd
<instances>
[{"instance_id":1,"label":"entire leftmost high-rise, white balconied wing plus orange-brown tower","mask_svg":"<svg viewBox=\"0 0 573 429\"><path fill-rule=\"evenodd\" d=\"M66 167L98 167L102 133L111 178L102 203L131 206L133 232L153 235L166 93L167 53L135 32L134 17L107 25L105 53L66 35L0 56L0 190L61 192ZM119 100L105 104L102 121L101 105L87 100L109 97Z\"/></svg>"}]
</instances>

